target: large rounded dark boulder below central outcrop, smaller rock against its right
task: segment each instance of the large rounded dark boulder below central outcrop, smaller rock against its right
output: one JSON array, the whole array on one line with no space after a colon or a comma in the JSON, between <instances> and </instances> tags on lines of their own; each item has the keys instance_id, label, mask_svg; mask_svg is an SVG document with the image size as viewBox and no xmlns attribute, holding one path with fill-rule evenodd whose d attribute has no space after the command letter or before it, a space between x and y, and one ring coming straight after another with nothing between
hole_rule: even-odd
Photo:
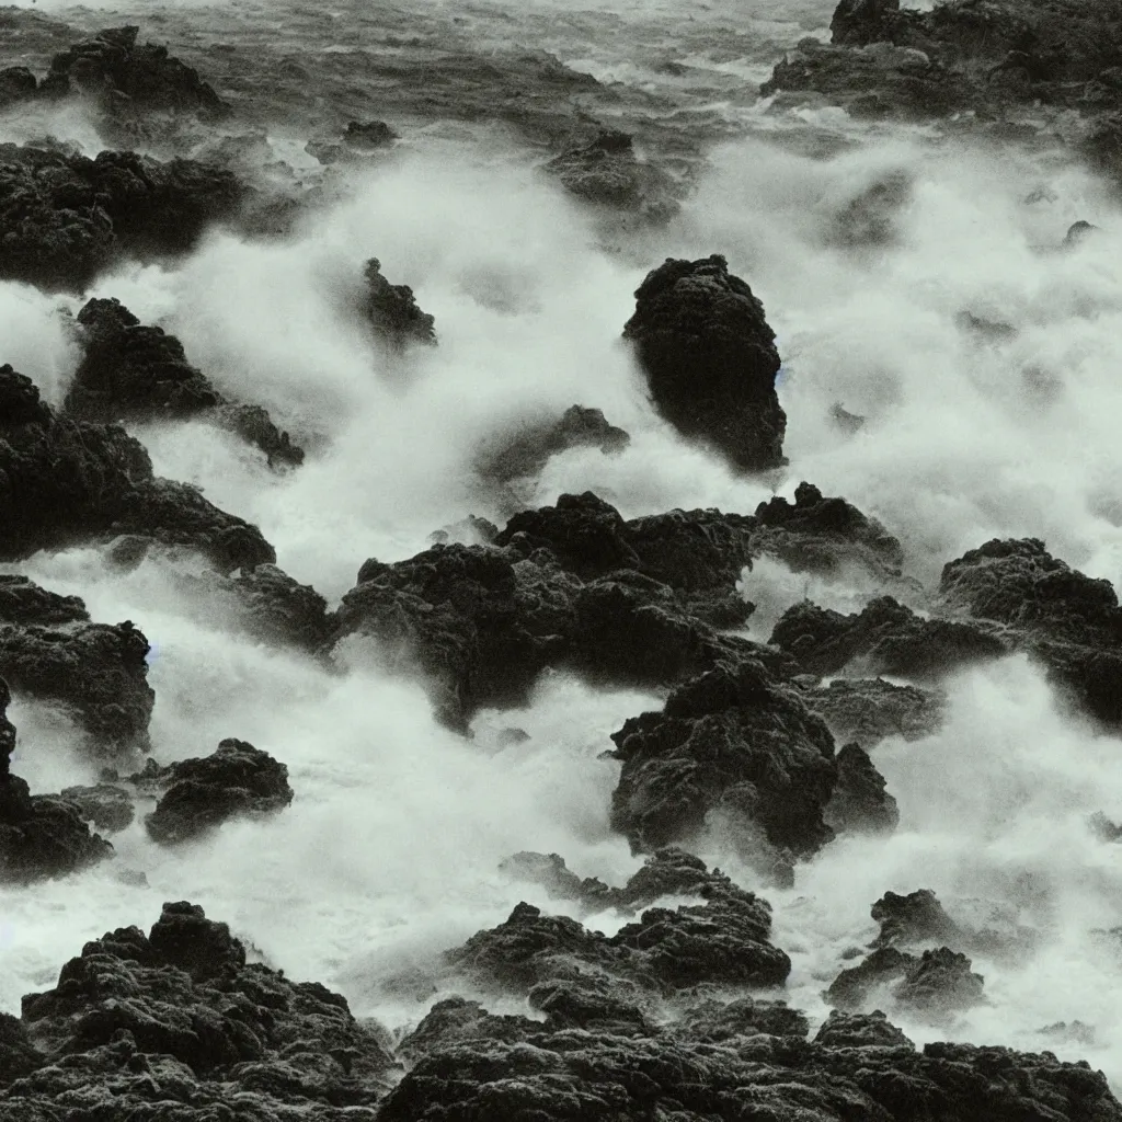
<instances>
[{"instance_id":1,"label":"large rounded dark boulder below central outcrop, smaller rock against its right","mask_svg":"<svg viewBox=\"0 0 1122 1122\"><path fill-rule=\"evenodd\" d=\"M769 847L808 856L834 838L824 818L838 779L834 739L758 663L702 674L611 739L623 764L611 825L638 850L690 840L712 813L765 864Z\"/></svg>"}]
</instances>

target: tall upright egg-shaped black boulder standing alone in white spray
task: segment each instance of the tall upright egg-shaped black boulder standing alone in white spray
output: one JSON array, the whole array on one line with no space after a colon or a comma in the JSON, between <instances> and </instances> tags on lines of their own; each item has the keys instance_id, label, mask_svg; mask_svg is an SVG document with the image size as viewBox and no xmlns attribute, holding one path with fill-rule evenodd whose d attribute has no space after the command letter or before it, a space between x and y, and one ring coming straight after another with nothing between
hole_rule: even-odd
<instances>
[{"instance_id":1,"label":"tall upright egg-shaped black boulder standing alone in white spray","mask_svg":"<svg viewBox=\"0 0 1122 1122\"><path fill-rule=\"evenodd\" d=\"M624 338L635 347L655 408L683 436L742 471L785 462L775 334L724 257L668 258L649 273Z\"/></svg>"}]
</instances>

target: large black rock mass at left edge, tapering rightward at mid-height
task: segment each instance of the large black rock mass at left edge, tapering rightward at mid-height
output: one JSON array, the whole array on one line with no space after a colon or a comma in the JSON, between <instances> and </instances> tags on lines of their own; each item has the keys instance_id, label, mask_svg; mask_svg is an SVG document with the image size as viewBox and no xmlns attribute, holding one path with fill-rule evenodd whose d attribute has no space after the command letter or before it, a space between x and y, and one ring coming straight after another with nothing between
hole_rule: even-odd
<instances>
[{"instance_id":1,"label":"large black rock mass at left edge, tapering rightward at mid-height","mask_svg":"<svg viewBox=\"0 0 1122 1122\"><path fill-rule=\"evenodd\" d=\"M0 542L4 560L138 533L191 545L222 572L276 561L260 531L197 488L157 479L139 441L116 425L55 417L38 390L0 367Z\"/></svg>"}]
</instances>

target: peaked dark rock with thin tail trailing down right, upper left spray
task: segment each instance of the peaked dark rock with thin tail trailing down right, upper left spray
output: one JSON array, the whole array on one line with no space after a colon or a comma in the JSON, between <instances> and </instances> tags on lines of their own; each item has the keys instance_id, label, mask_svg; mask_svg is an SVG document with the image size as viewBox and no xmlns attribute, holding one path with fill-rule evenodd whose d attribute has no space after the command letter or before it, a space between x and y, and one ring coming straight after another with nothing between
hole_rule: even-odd
<instances>
[{"instance_id":1,"label":"peaked dark rock with thin tail trailing down right, upper left spray","mask_svg":"<svg viewBox=\"0 0 1122 1122\"><path fill-rule=\"evenodd\" d=\"M255 444L269 466L300 465L304 452L260 406L227 401L191 366L183 344L149 328L117 300L91 300L79 313L84 347L64 413L80 421L204 420Z\"/></svg>"}]
</instances>

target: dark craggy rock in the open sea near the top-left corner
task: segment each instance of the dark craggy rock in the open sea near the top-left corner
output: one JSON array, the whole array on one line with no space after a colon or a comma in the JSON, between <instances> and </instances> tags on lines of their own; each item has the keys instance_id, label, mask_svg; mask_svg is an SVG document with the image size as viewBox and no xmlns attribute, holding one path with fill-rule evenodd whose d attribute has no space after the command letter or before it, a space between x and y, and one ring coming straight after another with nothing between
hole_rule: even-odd
<instances>
[{"instance_id":1,"label":"dark craggy rock in the open sea near the top-left corner","mask_svg":"<svg viewBox=\"0 0 1122 1122\"><path fill-rule=\"evenodd\" d=\"M52 96L81 92L112 116L122 113L190 113L221 120L230 107L199 72L169 55L166 47L137 44L138 27L98 31L61 50L43 80Z\"/></svg>"}]
</instances>

